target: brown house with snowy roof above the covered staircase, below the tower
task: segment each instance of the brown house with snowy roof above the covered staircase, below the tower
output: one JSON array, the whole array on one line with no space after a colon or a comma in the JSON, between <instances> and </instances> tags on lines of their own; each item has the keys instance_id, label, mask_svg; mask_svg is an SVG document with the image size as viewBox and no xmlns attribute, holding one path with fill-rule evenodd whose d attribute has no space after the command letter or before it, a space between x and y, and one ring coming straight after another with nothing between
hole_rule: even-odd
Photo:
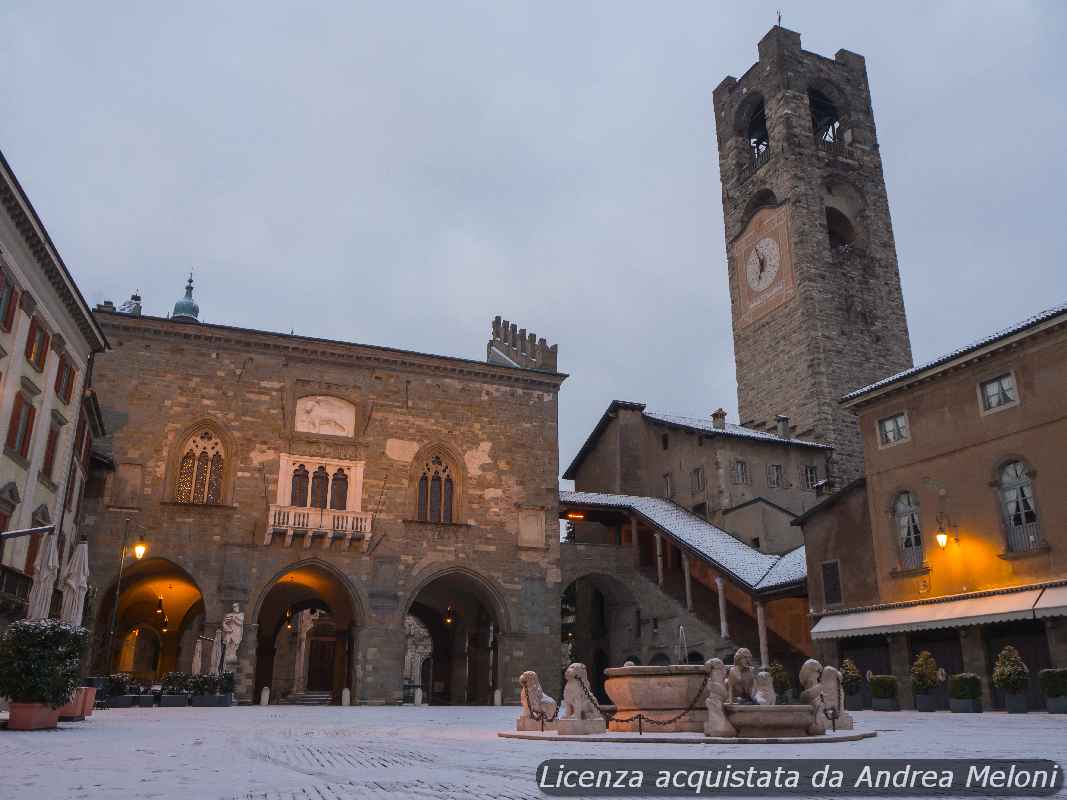
<instances>
[{"instance_id":1,"label":"brown house with snowy roof above the covered staircase, below the tower","mask_svg":"<svg viewBox=\"0 0 1067 800\"><path fill-rule=\"evenodd\" d=\"M614 401L563 477L579 492L664 497L764 553L802 544L793 519L818 502L828 445Z\"/></svg>"}]
</instances>

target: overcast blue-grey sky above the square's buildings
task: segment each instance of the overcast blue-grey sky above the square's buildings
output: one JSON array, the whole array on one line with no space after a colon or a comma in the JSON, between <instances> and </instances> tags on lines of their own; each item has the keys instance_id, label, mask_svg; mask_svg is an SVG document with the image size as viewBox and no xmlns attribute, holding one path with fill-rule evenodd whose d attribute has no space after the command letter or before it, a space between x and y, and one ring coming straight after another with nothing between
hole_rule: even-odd
<instances>
[{"instance_id":1,"label":"overcast blue-grey sky above the square's buildings","mask_svg":"<svg viewBox=\"0 0 1067 800\"><path fill-rule=\"evenodd\" d=\"M917 358L1067 301L1067 4L0 7L0 148L91 303L481 358L736 419L712 90L781 7L863 53Z\"/></svg>"}]
</instances>

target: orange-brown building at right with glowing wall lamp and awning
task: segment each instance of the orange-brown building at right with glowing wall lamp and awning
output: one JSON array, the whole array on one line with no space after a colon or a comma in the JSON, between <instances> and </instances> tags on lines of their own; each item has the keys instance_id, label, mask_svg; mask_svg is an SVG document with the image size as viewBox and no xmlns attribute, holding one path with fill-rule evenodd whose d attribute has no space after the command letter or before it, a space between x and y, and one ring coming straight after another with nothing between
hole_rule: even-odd
<instances>
[{"instance_id":1,"label":"orange-brown building at right with glowing wall lamp and awning","mask_svg":"<svg viewBox=\"0 0 1067 800\"><path fill-rule=\"evenodd\" d=\"M865 475L797 521L827 660L896 675L910 705L926 650L987 707L1004 645L1067 667L1065 397L1067 306L846 396Z\"/></svg>"}]
</instances>

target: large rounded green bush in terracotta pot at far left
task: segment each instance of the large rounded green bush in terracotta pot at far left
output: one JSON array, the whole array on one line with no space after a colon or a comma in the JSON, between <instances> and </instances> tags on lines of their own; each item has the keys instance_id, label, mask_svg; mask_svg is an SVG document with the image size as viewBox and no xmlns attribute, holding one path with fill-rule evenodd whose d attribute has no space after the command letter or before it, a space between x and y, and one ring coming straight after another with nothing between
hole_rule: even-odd
<instances>
[{"instance_id":1,"label":"large rounded green bush in terracotta pot at far left","mask_svg":"<svg viewBox=\"0 0 1067 800\"><path fill-rule=\"evenodd\" d=\"M57 620L19 620L0 634L0 697L11 699L7 727L55 727L78 687L89 631Z\"/></svg>"}]
</instances>

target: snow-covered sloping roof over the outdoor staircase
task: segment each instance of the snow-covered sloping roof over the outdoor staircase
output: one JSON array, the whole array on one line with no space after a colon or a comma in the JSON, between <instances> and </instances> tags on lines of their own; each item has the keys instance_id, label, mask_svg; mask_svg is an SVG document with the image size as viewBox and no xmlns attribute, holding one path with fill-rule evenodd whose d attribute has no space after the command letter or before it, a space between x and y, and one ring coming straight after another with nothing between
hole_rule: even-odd
<instances>
[{"instance_id":1,"label":"snow-covered sloping roof over the outdoor staircase","mask_svg":"<svg viewBox=\"0 0 1067 800\"><path fill-rule=\"evenodd\" d=\"M784 556L761 553L703 517L659 497L560 492L559 500L634 511L753 591L800 582L808 574L803 546Z\"/></svg>"}]
</instances>

